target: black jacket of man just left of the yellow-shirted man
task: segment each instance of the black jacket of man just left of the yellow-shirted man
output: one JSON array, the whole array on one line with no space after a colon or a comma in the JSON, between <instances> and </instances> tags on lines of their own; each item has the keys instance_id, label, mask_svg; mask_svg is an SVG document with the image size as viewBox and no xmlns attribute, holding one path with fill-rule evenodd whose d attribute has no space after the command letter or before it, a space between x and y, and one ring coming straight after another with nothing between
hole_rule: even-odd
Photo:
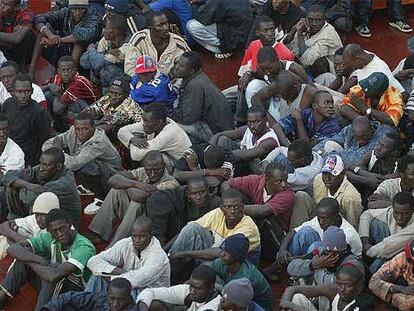
<instances>
[{"instance_id":1,"label":"black jacket of man just left of the yellow-shirted man","mask_svg":"<svg viewBox=\"0 0 414 311\"><path fill-rule=\"evenodd\" d=\"M153 233L161 244L176 236L189 221L197 220L219 205L220 198L209 194L206 208L197 209L187 198L187 186L158 191L147 200Z\"/></svg>"}]
</instances>

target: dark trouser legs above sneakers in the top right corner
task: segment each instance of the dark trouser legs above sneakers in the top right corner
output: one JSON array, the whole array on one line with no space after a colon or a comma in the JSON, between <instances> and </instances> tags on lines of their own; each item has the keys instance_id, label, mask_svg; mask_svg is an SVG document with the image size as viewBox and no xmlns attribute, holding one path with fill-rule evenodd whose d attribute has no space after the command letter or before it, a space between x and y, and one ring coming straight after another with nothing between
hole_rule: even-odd
<instances>
[{"instance_id":1,"label":"dark trouser legs above sneakers in the top right corner","mask_svg":"<svg viewBox=\"0 0 414 311\"><path fill-rule=\"evenodd\" d=\"M388 18L391 22L404 21L401 0L387 0ZM372 14L372 0L358 0L354 7L355 25L369 24Z\"/></svg>"}]
</instances>

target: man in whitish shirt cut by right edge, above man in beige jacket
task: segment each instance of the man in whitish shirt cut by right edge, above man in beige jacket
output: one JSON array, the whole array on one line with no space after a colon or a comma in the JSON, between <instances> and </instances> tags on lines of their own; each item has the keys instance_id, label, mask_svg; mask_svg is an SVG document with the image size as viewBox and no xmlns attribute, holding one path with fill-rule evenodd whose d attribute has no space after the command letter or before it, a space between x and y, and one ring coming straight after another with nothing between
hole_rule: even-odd
<instances>
[{"instance_id":1,"label":"man in whitish shirt cut by right edge, above man in beige jacket","mask_svg":"<svg viewBox=\"0 0 414 311\"><path fill-rule=\"evenodd\" d=\"M398 192L414 192L414 155L406 154L398 160L397 173L400 177L384 180L378 185L368 198L368 208L389 207Z\"/></svg>"}]
</instances>

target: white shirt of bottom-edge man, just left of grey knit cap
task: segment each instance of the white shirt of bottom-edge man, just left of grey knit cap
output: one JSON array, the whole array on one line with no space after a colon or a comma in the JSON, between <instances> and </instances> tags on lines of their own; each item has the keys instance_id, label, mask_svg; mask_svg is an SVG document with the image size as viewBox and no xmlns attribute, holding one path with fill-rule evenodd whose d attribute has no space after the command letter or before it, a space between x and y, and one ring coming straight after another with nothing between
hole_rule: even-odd
<instances>
[{"instance_id":1,"label":"white shirt of bottom-edge man, just left of grey knit cap","mask_svg":"<svg viewBox=\"0 0 414 311\"><path fill-rule=\"evenodd\" d=\"M137 304L139 302L145 303L148 307L153 300L158 300L163 303L172 305L184 306L185 298L190 293L190 285L176 285L171 287L161 288L146 288L137 297ZM192 302L188 311L203 311L203 310L218 310L220 305L221 296L217 295L216 298L210 300L207 303Z\"/></svg>"}]
</instances>

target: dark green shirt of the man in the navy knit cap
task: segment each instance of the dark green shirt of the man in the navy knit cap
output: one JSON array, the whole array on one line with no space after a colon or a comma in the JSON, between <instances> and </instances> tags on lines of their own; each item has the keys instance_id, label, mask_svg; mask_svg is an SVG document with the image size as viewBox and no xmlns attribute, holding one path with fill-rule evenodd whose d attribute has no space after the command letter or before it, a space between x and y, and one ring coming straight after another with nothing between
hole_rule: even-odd
<instances>
[{"instance_id":1,"label":"dark green shirt of the man in the navy knit cap","mask_svg":"<svg viewBox=\"0 0 414 311\"><path fill-rule=\"evenodd\" d=\"M235 274L230 274L229 268L218 258L211 263L217 276L225 284L232 280L247 278L250 280L254 290L254 302L262 306L265 310L272 310L272 291L270 285L257 268L250 262L245 261L240 270Z\"/></svg>"}]
</instances>

